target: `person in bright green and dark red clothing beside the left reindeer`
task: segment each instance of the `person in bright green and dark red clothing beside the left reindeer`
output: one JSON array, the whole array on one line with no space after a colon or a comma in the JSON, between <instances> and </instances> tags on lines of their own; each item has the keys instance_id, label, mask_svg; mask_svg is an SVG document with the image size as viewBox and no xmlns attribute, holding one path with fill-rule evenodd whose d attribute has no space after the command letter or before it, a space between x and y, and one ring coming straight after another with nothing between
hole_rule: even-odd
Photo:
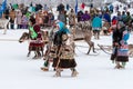
<instances>
[{"instance_id":1,"label":"person in bright green and dark red clothing beside the left reindeer","mask_svg":"<svg viewBox=\"0 0 133 89\"><path fill-rule=\"evenodd\" d=\"M29 23L29 33L31 38L29 50L33 50L35 52L33 59L38 59L41 57L40 50L44 46L42 41L42 33L40 26L35 23L35 19L33 17L30 18Z\"/></svg>"}]
</instances>

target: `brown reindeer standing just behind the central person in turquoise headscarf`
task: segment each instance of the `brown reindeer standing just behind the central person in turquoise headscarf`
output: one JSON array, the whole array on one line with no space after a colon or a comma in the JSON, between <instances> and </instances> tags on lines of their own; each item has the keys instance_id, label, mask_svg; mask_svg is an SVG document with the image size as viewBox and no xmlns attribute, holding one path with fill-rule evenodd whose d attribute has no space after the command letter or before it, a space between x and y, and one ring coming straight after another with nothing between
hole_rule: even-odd
<instances>
[{"instance_id":1,"label":"brown reindeer standing just behind the central person in turquoise headscarf","mask_svg":"<svg viewBox=\"0 0 133 89\"><path fill-rule=\"evenodd\" d=\"M73 33L73 38L74 39L76 39L75 30L76 31L81 30L82 33L83 33L83 39L80 39L80 40L84 40L89 44L90 48L89 48L88 55L90 53L91 49L93 49L93 52L95 52L95 50L94 50L94 42L91 41L91 38L92 38L91 22L90 21L81 21L81 22L78 22L75 24L75 27L70 28L70 31Z\"/></svg>"}]
</instances>

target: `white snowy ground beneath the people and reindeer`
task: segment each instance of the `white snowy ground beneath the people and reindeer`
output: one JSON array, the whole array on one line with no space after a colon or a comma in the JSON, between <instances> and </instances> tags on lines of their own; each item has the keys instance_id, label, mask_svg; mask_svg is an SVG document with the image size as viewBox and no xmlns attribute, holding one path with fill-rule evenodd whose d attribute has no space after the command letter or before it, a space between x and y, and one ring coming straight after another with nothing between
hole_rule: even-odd
<instances>
[{"instance_id":1,"label":"white snowy ground beneath the people and reindeer","mask_svg":"<svg viewBox=\"0 0 133 89\"><path fill-rule=\"evenodd\" d=\"M0 39L18 40L27 30L8 30ZM133 36L131 36L133 38ZM95 46L111 44L111 36L94 40ZM132 39L129 40L133 43ZM76 42L88 46L84 41ZM79 51L79 50L80 51ZM114 69L110 61L110 55L99 51L100 55L86 56L86 48L79 47L75 56L79 76L71 78L71 71L62 71L61 78L54 78L54 71L41 71L43 60L33 60L33 53L27 58L28 42L0 41L0 88L1 89L132 89L133 60L126 65L126 69Z\"/></svg>"}]
</instances>

